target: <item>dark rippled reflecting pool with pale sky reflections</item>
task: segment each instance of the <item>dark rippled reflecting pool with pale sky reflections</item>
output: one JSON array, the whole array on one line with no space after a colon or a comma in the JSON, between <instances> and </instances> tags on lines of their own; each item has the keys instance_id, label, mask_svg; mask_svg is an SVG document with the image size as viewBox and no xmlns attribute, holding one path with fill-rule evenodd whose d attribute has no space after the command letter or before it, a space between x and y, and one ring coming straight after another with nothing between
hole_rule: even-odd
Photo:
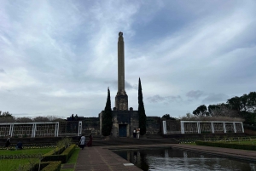
<instances>
[{"instance_id":1,"label":"dark rippled reflecting pool with pale sky reflections","mask_svg":"<svg viewBox=\"0 0 256 171\"><path fill-rule=\"evenodd\" d=\"M177 149L113 150L143 170L256 170L256 164Z\"/></svg>"}]
</instances>

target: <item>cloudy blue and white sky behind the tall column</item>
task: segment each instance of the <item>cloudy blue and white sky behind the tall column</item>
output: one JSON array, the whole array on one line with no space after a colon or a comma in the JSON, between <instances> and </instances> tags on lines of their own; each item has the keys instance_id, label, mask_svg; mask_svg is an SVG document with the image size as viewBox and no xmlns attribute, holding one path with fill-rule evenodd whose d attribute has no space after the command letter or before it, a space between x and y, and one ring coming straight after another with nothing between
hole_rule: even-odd
<instances>
[{"instance_id":1,"label":"cloudy blue and white sky behind the tall column","mask_svg":"<svg viewBox=\"0 0 256 171\"><path fill-rule=\"evenodd\" d=\"M97 117L125 90L147 116L182 117L199 105L256 91L255 1L0 0L0 111L15 117Z\"/></svg>"}]
</instances>

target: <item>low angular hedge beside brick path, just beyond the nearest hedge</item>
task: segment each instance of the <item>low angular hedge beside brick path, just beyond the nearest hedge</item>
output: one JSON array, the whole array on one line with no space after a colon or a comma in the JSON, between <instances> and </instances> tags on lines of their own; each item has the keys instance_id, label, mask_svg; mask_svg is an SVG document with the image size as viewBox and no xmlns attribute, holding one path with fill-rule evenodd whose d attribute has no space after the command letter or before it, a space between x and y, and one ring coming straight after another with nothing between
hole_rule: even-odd
<instances>
[{"instance_id":1,"label":"low angular hedge beside brick path, just beyond the nearest hedge","mask_svg":"<svg viewBox=\"0 0 256 171\"><path fill-rule=\"evenodd\" d=\"M61 161L62 163L66 163L68 158L71 157L73 151L75 150L76 145L70 145L67 147L65 151L61 154L53 155L50 153L46 153L43 155L42 162L48 161Z\"/></svg>"}]
</instances>

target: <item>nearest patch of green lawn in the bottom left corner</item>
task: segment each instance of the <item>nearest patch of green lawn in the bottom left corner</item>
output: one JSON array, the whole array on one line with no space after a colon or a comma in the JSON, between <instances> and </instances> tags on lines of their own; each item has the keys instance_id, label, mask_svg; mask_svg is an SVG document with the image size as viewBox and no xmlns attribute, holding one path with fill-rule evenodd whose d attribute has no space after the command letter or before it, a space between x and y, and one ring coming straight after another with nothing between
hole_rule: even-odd
<instances>
[{"instance_id":1,"label":"nearest patch of green lawn in the bottom left corner","mask_svg":"<svg viewBox=\"0 0 256 171\"><path fill-rule=\"evenodd\" d=\"M19 167L28 164L29 162L39 162L38 158L25 158L25 159L4 159L0 160L0 170L13 171Z\"/></svg>"}]
</instances>

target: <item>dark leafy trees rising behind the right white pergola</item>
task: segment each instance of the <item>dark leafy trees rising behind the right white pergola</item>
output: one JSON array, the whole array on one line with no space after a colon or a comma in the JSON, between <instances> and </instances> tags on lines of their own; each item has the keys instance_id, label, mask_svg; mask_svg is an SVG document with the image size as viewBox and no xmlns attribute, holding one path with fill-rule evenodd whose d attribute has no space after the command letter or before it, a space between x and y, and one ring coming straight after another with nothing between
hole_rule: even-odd
<instances>
[{"instance_id":1,"label":"dark leafy trees rising behind the right white pergola","mask_svg":"<svg viewBox=\"0 0 256 171\"><path fill-rule=\"evenodd\" d=\"M226 103L200 105L193 114L195 117L241 117L245 123L256 123L256 92L232 97Z\"/></svg>"}]
</instances>

